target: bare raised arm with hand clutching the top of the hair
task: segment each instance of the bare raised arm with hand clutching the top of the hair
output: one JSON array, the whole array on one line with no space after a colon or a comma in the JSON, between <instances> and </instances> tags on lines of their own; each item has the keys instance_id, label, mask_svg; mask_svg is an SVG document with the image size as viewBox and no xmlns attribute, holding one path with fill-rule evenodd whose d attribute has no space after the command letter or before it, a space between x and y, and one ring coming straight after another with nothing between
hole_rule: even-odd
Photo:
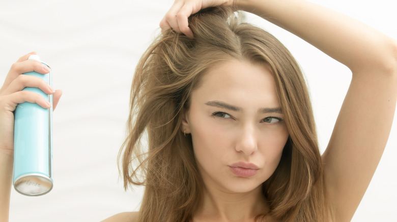
<instances>
[{"instance_id":1,"label":"bare raised arm with hand clutching the top of the hair","mask_svg":"<svg viewBox=\"0 0 397 222\"><path fill-rule=\"evenodd\" d=\"M301 0L191 2L176 1L160 26L178 24L174 29L187 30L190 36L184 21L189 12L200 10L197 6L235 5L296 34L351 69L351 85L323 155L335 219L350 221L389 136L397 96L396 42L348 16Z\"/></svg>"}]
</instances>

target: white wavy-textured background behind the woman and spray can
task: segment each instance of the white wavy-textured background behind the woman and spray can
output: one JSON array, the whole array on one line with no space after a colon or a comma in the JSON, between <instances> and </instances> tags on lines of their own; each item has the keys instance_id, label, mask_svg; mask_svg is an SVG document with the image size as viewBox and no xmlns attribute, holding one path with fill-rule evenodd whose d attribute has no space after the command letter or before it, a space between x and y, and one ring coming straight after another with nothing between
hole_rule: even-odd
<instances>
[{"instance_id":1,"label":"white wavy-textured background behind the woman and spray can","mask_svg":"<svg viewBox=\"0 0 397 222\"><path fill-rule=\"evenodd\" d=\"M397 39L393 1L313 1ZM158 23L172 3L2 0L0 83L13 62L37 51L53 70L54 88L64 91L53 116L54 188L41 197L25 197L13 190L10 221L99 221L138 209L143 189L124 192L117 155L125 136L134 67L159 32ZM323 151L347 91L350 71L268 22L254 16L247 20L279 38L302 66ZM352 221L397 221L396 125Z\"/></svg>"}]
</instances>

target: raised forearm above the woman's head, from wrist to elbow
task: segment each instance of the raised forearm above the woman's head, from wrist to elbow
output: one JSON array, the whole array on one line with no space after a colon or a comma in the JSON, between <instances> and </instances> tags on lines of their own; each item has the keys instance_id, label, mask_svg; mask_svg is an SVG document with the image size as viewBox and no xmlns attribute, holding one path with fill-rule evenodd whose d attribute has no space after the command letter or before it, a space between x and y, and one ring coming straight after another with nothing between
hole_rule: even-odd
<instances>
[{"instance_id":1,"label":"raised forearm above the woman's head, from wrist to elbow","mask_svg":"<svg viewBox=\"0 0 397 222\"><path fill-rule=\"evenodd\" d=\"M380 74L397 69L396 42L346 15L303 0L236 1L242 10L294 33L345 64L354 76L367 68Z\"/></svg>"}]
</instances>

